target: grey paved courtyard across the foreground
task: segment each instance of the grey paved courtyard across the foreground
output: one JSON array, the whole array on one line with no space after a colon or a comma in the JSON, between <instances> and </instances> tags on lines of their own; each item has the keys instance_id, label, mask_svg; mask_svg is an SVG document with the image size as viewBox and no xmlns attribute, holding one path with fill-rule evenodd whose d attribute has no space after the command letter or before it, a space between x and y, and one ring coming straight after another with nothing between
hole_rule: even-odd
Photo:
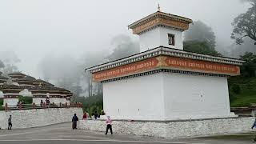
<instances>
[{"instance_id":1,"label":"grey paved courtyard across the foreground","mask_svg":"<svg viewBox=\"0 0 256 144\"><path fill-rule=\"evenodd\" d=\"M177 144L247 144L253 143L254 134L216 136L214 138L163 139L133 135L105 135L86 130L71 130L71 123L62 123L25 130L0 130L0 144L130 144L130 143L177 143Z\"/></svg>"}]
</instances>

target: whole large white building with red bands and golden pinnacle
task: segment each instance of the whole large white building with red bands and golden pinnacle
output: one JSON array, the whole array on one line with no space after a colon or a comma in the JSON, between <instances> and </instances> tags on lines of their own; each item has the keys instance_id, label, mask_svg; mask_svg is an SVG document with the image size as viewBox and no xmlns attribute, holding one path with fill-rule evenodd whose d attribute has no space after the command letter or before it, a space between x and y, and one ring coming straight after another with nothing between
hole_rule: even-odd
<instances>
[{"instance_id":1,"label":"whole large white building with red bands and golden pinnacle","mask_svg":"<svg viewBox=\"0 0 256 144\"><path fill-rule=\"evenodd\" d=\"M103 83L103 107L114 119L230 118L227 78L241 60L183 50L182 32L192 22L158 11L129 26L141 52L86 70Z\"/></svg>"}]
</instances>

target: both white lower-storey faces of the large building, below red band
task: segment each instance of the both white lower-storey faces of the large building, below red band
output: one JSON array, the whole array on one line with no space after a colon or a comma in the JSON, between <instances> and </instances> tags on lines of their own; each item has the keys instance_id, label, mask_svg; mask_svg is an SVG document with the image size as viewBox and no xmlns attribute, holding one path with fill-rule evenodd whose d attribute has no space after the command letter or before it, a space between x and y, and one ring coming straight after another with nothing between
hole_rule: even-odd
<instances>
[{"instance_id":1,"label":"both white lower-storey faces of the large building, below red band","mask_svg":"<svg viewBox=\"0 0 256 144\"><path fill-rule=\"evenodd\" d=\"M114 119L178 120L235 117L227 78L160 73L103 83L106 115Z\"/></svg>"}]
</instances>

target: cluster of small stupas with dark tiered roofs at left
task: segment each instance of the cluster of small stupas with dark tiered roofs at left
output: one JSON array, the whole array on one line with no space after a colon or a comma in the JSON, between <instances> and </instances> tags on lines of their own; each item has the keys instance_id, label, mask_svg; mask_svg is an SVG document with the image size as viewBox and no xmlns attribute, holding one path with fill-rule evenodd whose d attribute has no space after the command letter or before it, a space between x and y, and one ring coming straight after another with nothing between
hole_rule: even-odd
<instances>
[{"instance_id":1,"label":"cluster of small stupas with dark tiered roofs at left","mask_svg":"<svg viewBox=\"0 0 256 144\"><path fill-rule=\"evenodd\" d=\"M2 91L4 105L17 106L20 96L29 95L33 98L33 103L40 105L41 102L59 104L60 102L70 104L72 93L70 90L58 88L50 82L36 79L20 72L14 72L3 76L0 72L0 92ZM48 101L48 102L49 102Z\"/></svg>"}]
</instances>

